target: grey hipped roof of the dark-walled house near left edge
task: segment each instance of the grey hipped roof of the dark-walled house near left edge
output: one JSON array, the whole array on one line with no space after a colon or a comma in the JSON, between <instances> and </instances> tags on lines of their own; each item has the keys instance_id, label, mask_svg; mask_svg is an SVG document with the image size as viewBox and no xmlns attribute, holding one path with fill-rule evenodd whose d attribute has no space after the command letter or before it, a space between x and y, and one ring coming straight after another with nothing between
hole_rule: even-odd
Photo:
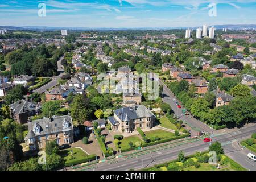
<instances>
[{"instance_id":1,"label":"grey hipped roof of the dark-walled house near left edge","mask_svg":"<svg viewBox=\"0 0 256 182\"><path fill-rule=\"evenodd\" d=\"M21 114L27 111L39 110L41 107L39 105L33 104L32 102L27 102L25 100L19 100L9 105L10 109L13 109L15 113Z\"/></svg>"}]
</instances>

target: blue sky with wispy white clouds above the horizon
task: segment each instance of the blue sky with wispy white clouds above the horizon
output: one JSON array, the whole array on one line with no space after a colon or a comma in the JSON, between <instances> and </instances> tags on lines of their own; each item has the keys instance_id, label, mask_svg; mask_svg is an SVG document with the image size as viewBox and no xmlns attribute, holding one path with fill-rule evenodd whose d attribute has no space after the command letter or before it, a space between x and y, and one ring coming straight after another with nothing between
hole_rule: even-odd
<instances>
[{"instance_id":1,"label":"blue sky with wispy white clouds above the horizon","mask_svg":"<svg viewBox=\"0 0 256 182\"><path fill-rule=\"evenodd\" d=\"M38 5L46 16L38 16ZM216 4L217 16L209 16ZM256 0L0 0L1 26L195 27L256 24Z\"/></svg>"}]
</instances>

